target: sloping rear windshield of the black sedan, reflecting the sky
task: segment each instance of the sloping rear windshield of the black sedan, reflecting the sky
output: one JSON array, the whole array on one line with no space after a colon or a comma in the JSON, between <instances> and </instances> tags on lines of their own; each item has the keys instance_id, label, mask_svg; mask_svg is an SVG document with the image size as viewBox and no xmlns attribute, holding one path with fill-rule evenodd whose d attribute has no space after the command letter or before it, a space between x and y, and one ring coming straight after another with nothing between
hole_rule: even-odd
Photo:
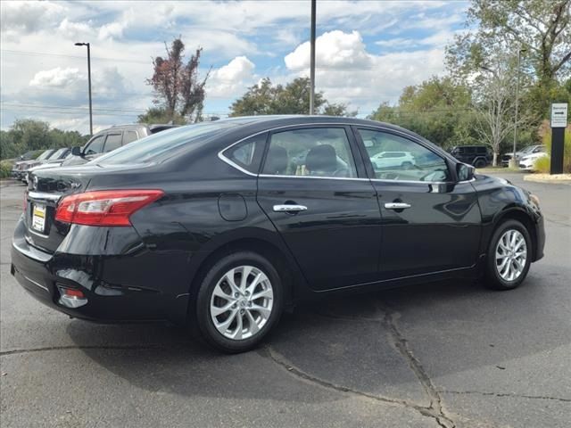
<instances>
[{"instance_id":1,"label":"sloping rear windshield of the black sedan, reflecting the sky","mask_svg":"<svg viewBox=\"0 0 571 428\"><path fill-rule=\"evenodd\" d=\"M120 149L114 150L92 163L98 165L126 165L163 161L173 152L191 144L210 140L238 125L236 122L205 122L172 128L152 136L146 136Z\"/></svg>"}]
</instances>

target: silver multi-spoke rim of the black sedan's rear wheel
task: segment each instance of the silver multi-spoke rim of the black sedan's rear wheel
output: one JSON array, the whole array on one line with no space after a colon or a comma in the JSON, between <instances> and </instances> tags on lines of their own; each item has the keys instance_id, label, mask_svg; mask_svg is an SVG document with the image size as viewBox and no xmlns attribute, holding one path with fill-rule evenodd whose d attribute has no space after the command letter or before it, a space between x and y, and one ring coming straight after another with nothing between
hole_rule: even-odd
<instances>
[{"instance_id":1,"label":"silver multi-spoke rim of the black sedan's rear wheel","mask_svg":"<svg viewBox=\"0 0 571 428\"><path fill-rule=\"evenodd\" d=\"M248 339L268 323L274 290L259 268L239 266L224 274L211 295L211 320L224 337Z\"/></svg>"}]
</instances>

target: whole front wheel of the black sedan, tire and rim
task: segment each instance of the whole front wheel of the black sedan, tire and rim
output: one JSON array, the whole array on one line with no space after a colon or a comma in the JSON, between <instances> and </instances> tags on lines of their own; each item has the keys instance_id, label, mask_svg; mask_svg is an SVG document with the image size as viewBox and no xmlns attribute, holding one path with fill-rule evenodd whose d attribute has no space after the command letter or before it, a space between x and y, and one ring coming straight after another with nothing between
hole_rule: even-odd
<instances>
[{"instance_id":1,"label":"whole front wheel of the black sedan, tire and rim","mask_svg":"<svg viewBox=\"0 0 571 428\"><path fill-rule=\"evenodd\" d=\"M521 284L531 265L532 245L529 232L519 221L502 223L488 248L487 284L496 290L511 290Z\"/></svg>"}]
</instances>

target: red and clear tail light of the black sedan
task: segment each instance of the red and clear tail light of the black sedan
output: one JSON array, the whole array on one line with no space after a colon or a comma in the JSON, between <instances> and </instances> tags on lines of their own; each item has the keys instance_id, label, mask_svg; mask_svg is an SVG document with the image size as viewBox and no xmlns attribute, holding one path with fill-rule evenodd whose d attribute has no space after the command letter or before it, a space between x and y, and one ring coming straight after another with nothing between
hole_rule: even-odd
<instances>
[{"instance_id":1,"label":"red and clear tail light of the black sedan","mask_svg":"<svg viewBox=\"0 0 571 428\"><path fill-rule=\"evenodd\" d=\"M130 226L129 217L161 198L161 190L101 190L65 196L55 219L87 226Z\"/></svg>"}]
</instances>

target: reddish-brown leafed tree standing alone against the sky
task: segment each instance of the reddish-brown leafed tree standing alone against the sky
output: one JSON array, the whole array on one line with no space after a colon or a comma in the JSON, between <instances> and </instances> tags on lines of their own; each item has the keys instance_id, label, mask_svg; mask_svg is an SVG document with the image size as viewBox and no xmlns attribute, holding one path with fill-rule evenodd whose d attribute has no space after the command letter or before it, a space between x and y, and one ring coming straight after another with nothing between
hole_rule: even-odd
<instances>
[{"instance_id":1,"label":"reddish-brown leafed tree standing alone against the sky","mask_svg":"<svg viewBox=\"0 0 571 428\"><path fill-rule=\"evenodd\" d=\"M166 112L167 121L178 119L177 116L196 121L202 115L204 86L210 76L209 70L203 80L198 77L203 50L196 49L185 64L185 44L180 38L173 40L170 48L165 43L165 49L167 57L153 58L153 77L146 80L147 85L153 86L153 103Z\"/></svg>"}]
</instances>

